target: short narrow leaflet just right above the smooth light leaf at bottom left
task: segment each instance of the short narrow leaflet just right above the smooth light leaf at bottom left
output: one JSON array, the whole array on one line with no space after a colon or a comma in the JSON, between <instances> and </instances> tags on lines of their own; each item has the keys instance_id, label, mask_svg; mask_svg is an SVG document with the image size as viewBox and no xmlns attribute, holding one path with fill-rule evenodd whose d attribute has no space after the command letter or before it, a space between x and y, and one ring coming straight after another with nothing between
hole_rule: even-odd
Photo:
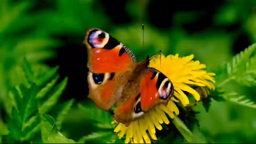
<instances>
[{"instance_id":1,"label":"short narrow leaflet just right above the smooth light leaf at bottom left","mask_svg":"<svg viewBox=\"0 0 256 144\"><path fill-rule=\"evenodd\" d=\"M74 99L69 100L62 106L62 109L59 110L59 113L57 115L56 122L55 122L59 130L61 129L61 124L65 119L66 115L68 114L68 111L71 109L74 101L75 101Z\"/></svg>"}]
</instances>

